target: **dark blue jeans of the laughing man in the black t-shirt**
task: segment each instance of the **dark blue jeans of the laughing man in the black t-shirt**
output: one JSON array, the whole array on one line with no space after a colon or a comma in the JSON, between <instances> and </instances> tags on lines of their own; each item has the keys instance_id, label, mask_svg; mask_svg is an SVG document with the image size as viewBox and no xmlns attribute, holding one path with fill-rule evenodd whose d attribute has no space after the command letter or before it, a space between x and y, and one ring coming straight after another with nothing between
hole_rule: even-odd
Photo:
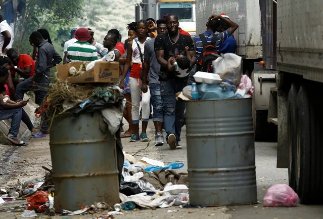
<instances>
[{"instance_id":1,"label":"dark blue jeans of the laughing man in the black t-shirt","mask_svg":"<svg viewBox=\"0 0 323 219\"><path fill-rule=\"evenodd\" d=\"M186 85L186 80L170 79L160 82L161 98L164 105L164 125L167 133L166 139L170 134L174 134L177 142L180 141L185 103L181 100L176 101L175 94L182 91Z\"/></svg>"}]
</instances>

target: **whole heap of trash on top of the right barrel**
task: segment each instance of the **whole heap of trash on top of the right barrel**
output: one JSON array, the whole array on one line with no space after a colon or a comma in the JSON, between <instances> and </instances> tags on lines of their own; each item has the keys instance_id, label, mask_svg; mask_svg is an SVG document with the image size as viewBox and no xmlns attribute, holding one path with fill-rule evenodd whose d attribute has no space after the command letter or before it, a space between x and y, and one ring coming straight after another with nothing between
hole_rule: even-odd
<instances>
[{"instance_id":1,"label":"whole heap of trash on top of the right barrel","mask_svg":"<svg viewBox=\"0 0 323 219\"><path fill-rule=\"evenodd\" d=\"M216 100L250 98L254 87L248 75L242 74L242 57L226 53L213 62L213 73L198 71L192 85L179 95L183 100Z\"/></svg>"}]
</instances>

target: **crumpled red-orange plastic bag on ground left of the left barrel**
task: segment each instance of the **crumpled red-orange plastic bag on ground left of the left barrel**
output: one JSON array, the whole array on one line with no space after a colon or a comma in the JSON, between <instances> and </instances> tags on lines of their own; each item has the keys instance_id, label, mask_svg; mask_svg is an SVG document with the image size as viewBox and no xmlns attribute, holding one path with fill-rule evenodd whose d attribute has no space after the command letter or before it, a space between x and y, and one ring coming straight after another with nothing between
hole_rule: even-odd
<instances>
[{"instance_id":1,"label":"crumpled red-orange plastic bag on ground left of the left barrel","mask_svg":"<svg viewBox=\"0 0 323 219\"><path fill-rule=\"evenodd\" d=\"M36 194L26 198L27 210L35 210L37 212L44 212L50 207L50 199L48 194L44 191L37 191Z\"/></svg>"}]
</instances>

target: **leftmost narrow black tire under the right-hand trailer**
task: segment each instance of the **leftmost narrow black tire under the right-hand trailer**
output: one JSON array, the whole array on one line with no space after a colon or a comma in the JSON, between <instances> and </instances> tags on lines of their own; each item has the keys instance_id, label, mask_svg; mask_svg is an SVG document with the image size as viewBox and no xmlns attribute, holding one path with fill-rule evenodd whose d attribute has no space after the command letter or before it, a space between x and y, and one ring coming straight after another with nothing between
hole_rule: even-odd
<instances>
[{"instance_id":1,"label":"leftmost narrow black tire under the right-hand trailer","mask_svg":"<svg viewBox=\"0 0 323 219\"><path fill-rule=\"evenodd\" d=\"M287 111L287 133L288 133L288 147L289 147L289 162L288 162L288 179L289 186L297 192L296 187L296 127L297 123L297 87L292 84L291 89L288 93L288 111Z\"/></svg>"}]
</instances>

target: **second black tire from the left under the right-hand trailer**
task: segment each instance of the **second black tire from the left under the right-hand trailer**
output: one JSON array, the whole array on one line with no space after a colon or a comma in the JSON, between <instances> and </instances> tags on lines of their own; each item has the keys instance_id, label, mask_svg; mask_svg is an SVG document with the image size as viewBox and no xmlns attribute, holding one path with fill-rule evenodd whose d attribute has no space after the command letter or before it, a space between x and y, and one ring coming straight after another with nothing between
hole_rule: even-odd
<instances>
[{"instance_id":1,"label":"second black tire from the left under the right-hand trailer","mask_svg":"<svg viewBox=\"0 0 323 219\"><path fill-rule=\"evenodd\" d=\"M308 93L305 86L301 86L297 96L298 125L296 126L296 170L295 179L297 193L302 203L307 204L313 201L310 191L311 179L315 169L311 171L311 136L310 136L310 110ZM315 145L313 145L315 147Z\"/></svg>"}]
</instances>

